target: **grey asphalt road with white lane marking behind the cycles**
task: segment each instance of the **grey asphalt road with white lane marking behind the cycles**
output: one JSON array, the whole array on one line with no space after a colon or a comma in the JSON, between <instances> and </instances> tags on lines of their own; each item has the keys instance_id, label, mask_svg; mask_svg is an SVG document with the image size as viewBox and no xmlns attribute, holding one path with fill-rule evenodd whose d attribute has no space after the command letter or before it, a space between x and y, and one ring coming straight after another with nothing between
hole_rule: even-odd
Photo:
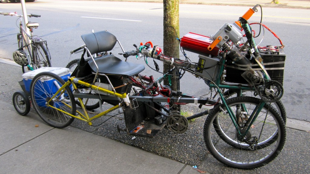
<instances>
[{"instance_id":1,"label":"grey asphalt road with white lane marking behind the cycles","mask_svg":"<svg viewBox=\"0 0 310 174\"><path fill-rule=\"evenodd\" d=\"M117 36L124 49L132 50L133 44L151 40L155 45L162 45L163 40L163 8L158 3L136 2L101 2L101 1L51 1L41 0L26 3L27 13L42 15L41 18L31 18L38 22L39 28L35 34L48 40L51 51L52 66L65 67L70 60L79 58L70 51L83 45L80 35L91 30L108 30ZM215 34L225 23L237 20L249 7L180 5L180 36L195 32L210 36ZM0 11L21 14L21 6L17 3L1 4ZM263 8L263 22L271 28L283 41L286 52L284 77L285 94L282 102L285 104L289 118L310 121L309 91L310 74L309 35L310 11L301 9ZM11 58L17 48L15 25L16 17L0 16L0 57ZM260 13L255 13L249 22L259 22ZM18 24L18 21L17 21ZM255 27L253 27L255 28ZM262 36L262 35L261 35ZM260 42L262 37L257 38ZM267 30L264 31L264 45L280 45L278 40ZM121 53L119 46L114 54ZM180 56L182 57L182 55ZM193 62L197 62L197 54L188 53ZM131 62L144 64L144 60ZM153 61L152 61L153 62ZM150 64L153 66L152 64ZM162 70L162 69L161 69ZM144 74L154 74L146 68ZM194 85L193 85L194 84ZM194 88L193 88L194 86ZM192 75L186 74L181 79L181 91L190 95L202 95L209 91L205 83Z\"/></svg>"}]
</instances>

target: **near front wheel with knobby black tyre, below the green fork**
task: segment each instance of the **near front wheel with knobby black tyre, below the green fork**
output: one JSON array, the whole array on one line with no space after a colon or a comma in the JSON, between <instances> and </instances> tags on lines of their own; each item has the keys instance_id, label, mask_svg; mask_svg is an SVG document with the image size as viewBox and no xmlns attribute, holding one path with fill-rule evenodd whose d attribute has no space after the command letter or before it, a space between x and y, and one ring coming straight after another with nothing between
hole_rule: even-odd
<instances>
[{"instance_id":1,"label":"near front wheel with knobby black tyre, below the green fork","mask_svg":"<svg viewBox=\"0 0 310 174\"><path fill-rule=\"evenodd\" d=\"M241 96L228 99L227 104L233 115L242 117L255 112L260 101ZM243 109L240 110L240 107ZM261 167L277 157L284 147L286 130L282 118L273 107L265 104L251 126L237 123L241 134L245 134L250 127L243 137L239 137L229 115L221 113L225 110L219 105L215 107L204 125L206 146L216 159L231 167L250 169Z\"/></svg>"}]
</instances>

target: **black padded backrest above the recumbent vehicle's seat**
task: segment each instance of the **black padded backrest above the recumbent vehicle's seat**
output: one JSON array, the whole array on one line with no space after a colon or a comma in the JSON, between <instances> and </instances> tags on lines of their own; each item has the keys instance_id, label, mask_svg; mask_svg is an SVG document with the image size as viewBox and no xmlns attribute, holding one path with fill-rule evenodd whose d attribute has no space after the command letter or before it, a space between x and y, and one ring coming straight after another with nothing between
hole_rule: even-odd
<instances>
[{"instance_id":1,"label":"black padded backrest above the recumbent vehicle's seat","mask_svg":"<svg viewBox=\"0 0 310 174\"><path fill-rule=\"evenodd\" d=\"M107 31L83 34L83 41L91 54L111 51L116 44L116 37Z\"/></svg>"}]
</instances>

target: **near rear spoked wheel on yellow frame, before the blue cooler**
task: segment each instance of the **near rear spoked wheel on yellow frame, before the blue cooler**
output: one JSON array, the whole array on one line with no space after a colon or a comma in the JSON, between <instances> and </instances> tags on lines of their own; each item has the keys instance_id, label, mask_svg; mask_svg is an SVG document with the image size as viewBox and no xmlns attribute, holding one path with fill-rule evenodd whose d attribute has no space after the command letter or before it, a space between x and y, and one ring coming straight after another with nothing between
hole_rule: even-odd
<instances>
[{"instance_id":1,"label":"near rear spoked wheel on yellow frame, before the blue cooler","mask_svg":"<svg viewBox=\"0 0 310 174\"><path fill-rule=\"evenodd\" d=\"M34 76L30 85L34 109L43 121L55 128L69 126L74 120L74 117L69 114L76 114L76 104L71 88L66 86L56 93L64 84L64 80L58 75L41 72ZM53 95L55 95L54 98L52 98Z\"/></svg>"}]
</instances>

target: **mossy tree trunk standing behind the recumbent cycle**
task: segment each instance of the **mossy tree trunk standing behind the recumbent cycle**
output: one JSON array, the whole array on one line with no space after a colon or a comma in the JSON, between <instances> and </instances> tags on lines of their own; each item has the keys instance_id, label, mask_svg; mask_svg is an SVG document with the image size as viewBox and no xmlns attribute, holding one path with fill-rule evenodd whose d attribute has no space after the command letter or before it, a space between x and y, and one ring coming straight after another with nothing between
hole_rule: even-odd
<instances>
[{"instance_id":1,"label":"mossy tree trunk standing behind the recumbent cycle","mask_svg":"<svg viewBox=\"0 0 310 174\"><path fill-rule=\"evenodd\" d=\"M163 0L164 4L164 47L166 56L179 58L179 0ZM172 66L164 64L164 73ZM171 89L176 91L176 80L171 78ZM168 79L164 80L164 85L168 85Z\"/></svg>"}]
</instances>

